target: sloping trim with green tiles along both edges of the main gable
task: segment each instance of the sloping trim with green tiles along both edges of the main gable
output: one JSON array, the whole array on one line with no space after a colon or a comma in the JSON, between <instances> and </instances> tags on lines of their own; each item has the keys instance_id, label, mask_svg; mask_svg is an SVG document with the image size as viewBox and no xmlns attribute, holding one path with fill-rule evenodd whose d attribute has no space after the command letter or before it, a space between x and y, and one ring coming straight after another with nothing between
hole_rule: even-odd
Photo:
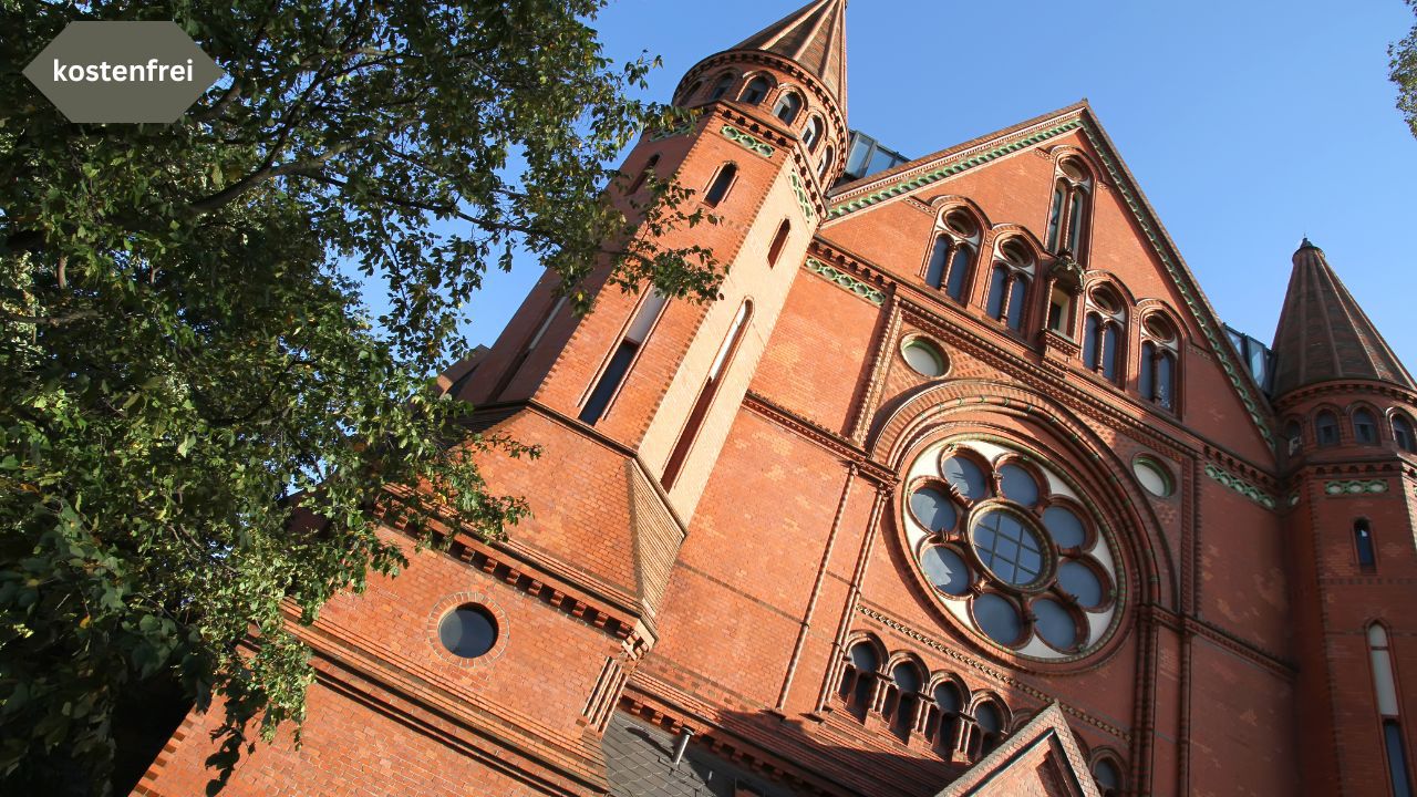
<instances>
[{"instance_id":1,"label":"sloping trim with green tiles along both edges of the main gable","mask_svg":"<svg viewBox=\"0 0 1417 797\"><path fill-rule=\"evenodd\" d=\"M1060 108L1051 113L1036 116L1026 122L979 136L965 143L944 149L934 155L911 160L880 174L871 174L854 183L842 186L830 197L826 224L862 213L867 208L914 194L918 189L938 183L947 177L978 169L1009 155L1032 149L1046 140L1081 130L1097 152L1098 160L1107 169L1108 177L1132 220L1146 237L1148 244L1162 262L1168 277L1175 284L1186 303L1196 326L1204 335L1214 352L1216 360L1234 387L1237 398L1270 447L1274 447L1274 418L1268 400L1261 393L1248 369L1243 367L1224 333L1224 325L1214 306L1196 282L1195 274L1186 265L1175 241L1166 234L1155 208L1146 201L1136 179L1117 153L1111 138L1102 130L1087 101Z\"/></svg>"}]
</instances>

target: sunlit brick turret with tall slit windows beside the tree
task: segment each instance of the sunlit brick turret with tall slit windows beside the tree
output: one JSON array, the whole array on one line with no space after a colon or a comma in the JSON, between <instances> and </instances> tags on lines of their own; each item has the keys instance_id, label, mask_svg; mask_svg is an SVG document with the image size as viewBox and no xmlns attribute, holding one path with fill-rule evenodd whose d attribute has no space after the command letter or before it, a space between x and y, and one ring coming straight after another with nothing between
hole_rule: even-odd
<instances>
[{"instance_id":1,"label":"sunlit brick turret with tall slit windows beside the tree","mask_svg":"<svg viewBox=\"0 0 1417 797\"><path fill-rule=\"evenodd\" d=\"M717 218L660 243L713 250L721 298L608 289L575 319L547 279L463 398L531 398L574 418L632 451L691 515L845 160L845 0L816 0L700 61L674 98L694 119L648 130L621 169L622 191L673 177L696 191L683 210Z\"/></svg>"}]
</instances>

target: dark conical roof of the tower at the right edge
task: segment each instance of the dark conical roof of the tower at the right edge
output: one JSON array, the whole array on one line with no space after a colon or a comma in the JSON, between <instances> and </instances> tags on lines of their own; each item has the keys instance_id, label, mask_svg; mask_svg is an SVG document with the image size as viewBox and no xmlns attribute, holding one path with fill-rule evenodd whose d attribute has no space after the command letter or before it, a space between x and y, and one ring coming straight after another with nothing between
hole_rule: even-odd
<instances>
[{"instance_id":1,"label":"dark conical roof of the tower at the right edge","mask_svg":"<svg viewBox=\"0 0 1417 797\"><path fill-rule=\"evenodd\" d=\"M1294 274L1274 332L1274 394L1345 379L1417 390L1411 374L1308 238L1294 252Z\"/></svg>"}]
</instances>

